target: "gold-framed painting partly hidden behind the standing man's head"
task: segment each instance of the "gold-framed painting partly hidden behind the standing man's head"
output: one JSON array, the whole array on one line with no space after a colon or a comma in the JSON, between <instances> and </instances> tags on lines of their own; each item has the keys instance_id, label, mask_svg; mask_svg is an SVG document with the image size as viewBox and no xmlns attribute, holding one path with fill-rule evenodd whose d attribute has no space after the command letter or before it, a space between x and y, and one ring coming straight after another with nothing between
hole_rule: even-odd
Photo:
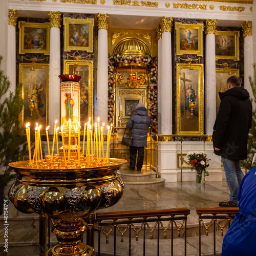
<instances>
[{"instance_id":1,"label":"gold-framed painting partly hidden behind the standing man's head","mask_svg":"<svg viewBox=\"0 0 256 256\"><path fill-rule=\"evenodd\" d=\"M219 92L226 91L226 81L230 76L239 76L239 69L216 69L216 115L221 103Z\"/></svg>"}]
</instances>

